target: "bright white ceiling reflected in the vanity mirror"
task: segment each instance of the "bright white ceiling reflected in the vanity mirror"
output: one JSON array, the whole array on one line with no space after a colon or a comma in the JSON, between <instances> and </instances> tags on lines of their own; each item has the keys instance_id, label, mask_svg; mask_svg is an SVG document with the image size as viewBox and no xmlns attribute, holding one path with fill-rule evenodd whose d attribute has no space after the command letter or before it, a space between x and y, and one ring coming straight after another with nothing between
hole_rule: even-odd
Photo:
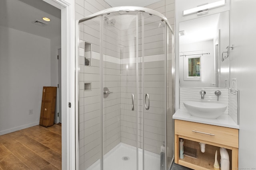
<instances>
[{"instance_id":1,"label":"bright white ceiling reflected in the vanity mirror","mask_svg":"<svg viewBox=\"0 0 256 170\"><path fill-rule=\"evenodd\" d=\"M185 35L180 36L180 44L196 43L214 39L220 14L214 14L183 21L179 24L180 31Z\"/></svg>"}]
</instances>

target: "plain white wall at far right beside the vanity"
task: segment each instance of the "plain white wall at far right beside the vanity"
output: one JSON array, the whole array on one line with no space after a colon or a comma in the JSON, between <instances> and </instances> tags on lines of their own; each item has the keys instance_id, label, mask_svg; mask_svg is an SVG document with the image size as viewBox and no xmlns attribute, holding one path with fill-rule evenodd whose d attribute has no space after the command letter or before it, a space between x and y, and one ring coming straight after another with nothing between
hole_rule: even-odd
<instances>
[{"instance_id":1,"label":"plain white wall at far right beside the vanity","mask_svg":"<svg viewBox=\"0 0 256 170\"><path fill-rule=\"evenodd\" d=\"M240 90L239 168L256 168L256 1L231 0L230 79L237 78Z\"/></svg>"}]
</instances>

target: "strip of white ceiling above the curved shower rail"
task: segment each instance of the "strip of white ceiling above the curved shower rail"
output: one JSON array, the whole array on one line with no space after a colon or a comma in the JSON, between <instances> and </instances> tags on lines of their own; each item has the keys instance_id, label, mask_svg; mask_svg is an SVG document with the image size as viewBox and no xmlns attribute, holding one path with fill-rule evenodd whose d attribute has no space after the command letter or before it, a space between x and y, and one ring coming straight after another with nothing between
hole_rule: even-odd
<instances>
[{"instance_id":1,"label":"strip of white ceiling above the curved shower rail","mask_svg":"<svg viewBox=\"0 0 256 170\"><path fill-rule=\"evenodd\" d=\"M110 6L141 6L145 7L160 0L105 0Z\"/></svg>"}]
</instances>

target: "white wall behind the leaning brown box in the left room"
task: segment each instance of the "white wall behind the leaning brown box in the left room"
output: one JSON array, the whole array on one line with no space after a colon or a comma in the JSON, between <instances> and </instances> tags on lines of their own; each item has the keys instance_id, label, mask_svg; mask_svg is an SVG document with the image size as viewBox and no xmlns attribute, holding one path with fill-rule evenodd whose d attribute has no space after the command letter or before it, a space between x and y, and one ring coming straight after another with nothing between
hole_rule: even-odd
<instances>
[{"instance_id":1,"label":"white wall behind the leaning brown box in the left room","mask_svg":"<svg viewBox=\"0 0 256 170\"><path fill-rule=\"evenodd\" d=\"M50 39L2 26L0 37L2 135L39 124L42 87L51 85L51 61Z\"/></svg>"}]
</instances>

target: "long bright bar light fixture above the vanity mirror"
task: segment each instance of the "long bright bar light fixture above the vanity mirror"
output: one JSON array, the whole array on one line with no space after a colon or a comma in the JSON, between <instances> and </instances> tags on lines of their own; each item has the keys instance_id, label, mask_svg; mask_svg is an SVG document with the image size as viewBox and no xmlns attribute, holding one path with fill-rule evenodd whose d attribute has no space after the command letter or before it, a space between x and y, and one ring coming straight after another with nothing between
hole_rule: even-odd
<instances>
[{"instance_id":1,"label":"long bright bar light fixture above the vanity mirror","mask_svg":"<svg viewBox=\"0 0 256 170\"><path fill-rule=\"evenodd\" d=\"M198 14L204 14L204 13L208 12L208 9L216 8L216 7L223 6L223 5L225 5L225 0L220 0L220 1L217 1L217 2L210 3L210 4L198 6L196 8L191 8L189 10L184 10L183 11L183 16L193 14L193 13L196 13L196 12Z\"/></svg>"}]
</instances>

